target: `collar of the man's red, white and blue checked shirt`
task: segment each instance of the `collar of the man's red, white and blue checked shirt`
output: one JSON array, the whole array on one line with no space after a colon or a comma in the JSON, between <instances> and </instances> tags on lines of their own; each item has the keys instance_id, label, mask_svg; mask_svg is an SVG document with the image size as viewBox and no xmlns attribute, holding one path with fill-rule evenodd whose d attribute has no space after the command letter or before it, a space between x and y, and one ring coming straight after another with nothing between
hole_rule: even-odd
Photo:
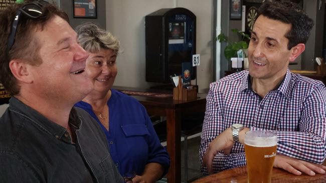
<instances>
[{"instance_id":1,"label":"collar of the man's red, white and blue checked shirt","mask_svg":"<svg viewBox=\"0 0 326 183\"><path fill-rule=\"evenodd\" d=\"M276 89L280 93L282 93L285 97L289 97L289 94L290 94L290 92L289 92L290 81L291 81L291 72L289 71L289 69L287 69L281 84ZM252 91L249 71L247 71L247 74L244 74L239 91L241 92L246 89Z\"/></svg>"}]
</instances>

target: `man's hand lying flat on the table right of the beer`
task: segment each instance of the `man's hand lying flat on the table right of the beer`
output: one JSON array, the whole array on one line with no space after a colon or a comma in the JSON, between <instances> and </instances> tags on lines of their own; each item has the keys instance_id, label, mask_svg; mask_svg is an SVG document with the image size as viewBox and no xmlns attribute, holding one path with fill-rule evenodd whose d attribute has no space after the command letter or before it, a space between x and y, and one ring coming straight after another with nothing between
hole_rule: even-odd
<instances>
[{"instance_id":1,"label":"man's hand lying flat on the table right of the beer","mask_svg":"<svg viewBox=\"0 0 326 183\"><path fill-rule=\"evenodd\" d=\"M301 172L304 172L307 175L313 176L316 173L324 174L326 170L326 166L322 164L315 164L281 154L275 156L273 166L282 168L295 175L300 175Z\"/></svg>"}]
</instances>

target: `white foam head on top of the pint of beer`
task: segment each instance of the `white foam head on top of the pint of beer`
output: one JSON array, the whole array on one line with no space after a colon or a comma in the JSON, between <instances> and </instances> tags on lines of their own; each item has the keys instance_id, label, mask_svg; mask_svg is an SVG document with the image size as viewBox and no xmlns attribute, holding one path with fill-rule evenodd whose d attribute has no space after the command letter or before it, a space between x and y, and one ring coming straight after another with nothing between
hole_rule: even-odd
<instances>
[{"instance_id":1,"label":"white foam head on top of the pint of beer","mask_svg":"<svg viewBox=\"0 0 326 183\"><path fill-rule=\"evenodd\" d=\"M270 131L247 131L245 144L258 147L277 145L277 135Z\"/></svg>"}]
</instances>

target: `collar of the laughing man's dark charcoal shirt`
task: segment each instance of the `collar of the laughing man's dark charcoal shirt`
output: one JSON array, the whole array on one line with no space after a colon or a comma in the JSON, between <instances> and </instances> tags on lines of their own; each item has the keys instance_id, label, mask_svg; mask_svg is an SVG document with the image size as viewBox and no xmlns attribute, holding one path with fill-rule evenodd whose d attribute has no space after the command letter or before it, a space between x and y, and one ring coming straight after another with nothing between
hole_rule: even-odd
<instances>
[{"instance_id":1,"label":"collar of the laughing man's dark charcoal shirt","mask_svg":"<svg viewBox=\"0 0 326 183\"><path fill-rule=\"evenodd\" d=\"M67 133L66 128L46 118L41 113L26 105L14 96L10 99L10 110L16 112L18 115L30 119L34 124L36 124L36 127L55 136L58 139L67 137L65 136L65 133ZM70 111L69 123L72 124L76 129L79 129L81 126L81 117L78 115L74 108L72 108ZM65 141L70 140L65 139Z\"/></svg>"}]
</instances>

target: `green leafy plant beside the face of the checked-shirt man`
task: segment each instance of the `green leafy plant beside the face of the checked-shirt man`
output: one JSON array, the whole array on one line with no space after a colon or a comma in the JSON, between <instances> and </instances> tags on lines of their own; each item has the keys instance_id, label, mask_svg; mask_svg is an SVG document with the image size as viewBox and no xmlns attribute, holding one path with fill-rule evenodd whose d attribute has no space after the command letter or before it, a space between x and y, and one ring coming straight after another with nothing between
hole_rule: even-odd
<instances>
[{"instance_id":1,"label":"green leafy plant beside the face of the checked-shirt man","mask_svg":"<svg viewBox=\"0 0 326 183\"><path fill-rule=\"evenodd\" d=\"M224 49L224 55L227 60L230 60L231 57L237 57L237 51L239 49L242 49L244 52L244 56L247 57L246 52L248 49L248 42L250 40L250 37L248 34L246 34L243 31L239 31L237 28L232 29L233 32L237 33L241 36L241 40L238 42L229 42L228 37L225 36L223 33L219 34L217 36L217 39L220 42L227 42L228 45Z\"/></svg>"}]
</instances>

